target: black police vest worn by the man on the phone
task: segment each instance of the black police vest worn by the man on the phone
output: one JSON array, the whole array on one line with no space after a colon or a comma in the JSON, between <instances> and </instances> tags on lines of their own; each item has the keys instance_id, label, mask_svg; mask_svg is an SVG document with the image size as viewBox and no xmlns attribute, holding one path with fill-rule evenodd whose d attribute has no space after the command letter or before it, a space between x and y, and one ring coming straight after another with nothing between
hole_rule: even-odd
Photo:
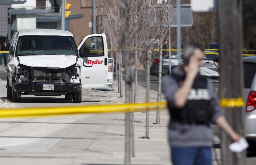
<instances>
[{"instance_id":1,"label":"black police vest worn by the man on the phone","mask_svg":"<svg viewBox=\"0 0 256 165\"><path fill-rule=\"evenodd\" d=\"M181 77L175 73L171 76L178 82L179 86L185 79L185 76ZM182 109L171 107L168 104L171 121L184 124L205 124L209 126L213 114L210 100L211 95L209 89L207 89L207 78L199 74L194 80L188 100Z\"/></svg>"}]
</instances>

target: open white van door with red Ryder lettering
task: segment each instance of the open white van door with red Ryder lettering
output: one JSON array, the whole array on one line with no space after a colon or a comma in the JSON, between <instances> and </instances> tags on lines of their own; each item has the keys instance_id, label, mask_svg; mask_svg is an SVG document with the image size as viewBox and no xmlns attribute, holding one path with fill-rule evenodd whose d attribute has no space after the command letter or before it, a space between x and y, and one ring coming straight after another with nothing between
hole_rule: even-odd
<instances>
[{"instance_id":1,"label":"open white van door with red Ryder lettering","mask_svg":"<svg viewBox=\"0 0 256 165\"><path fill-rule=\"evenodd\" d=\"M82 88L106 87L107 41L105 34L92 34L78 46Z\"/></svg>"}]
</instances>

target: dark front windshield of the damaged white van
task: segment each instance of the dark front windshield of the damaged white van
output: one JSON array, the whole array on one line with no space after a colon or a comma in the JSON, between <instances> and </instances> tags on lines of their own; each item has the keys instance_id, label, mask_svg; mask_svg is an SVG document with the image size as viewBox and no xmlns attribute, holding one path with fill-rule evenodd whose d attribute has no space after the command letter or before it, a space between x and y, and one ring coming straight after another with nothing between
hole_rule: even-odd
<instances>
[{"instance_id":1,"label":"dark front windshield of the damaged white van","mask_svg":"<svg viewBox=\"0 0 256 165\"><path fill-rule=\"evenodd\" d=\"M77 56L74 38L70 36L20 36L17 56L28 55Z\"/></svg>"}]
</instances>

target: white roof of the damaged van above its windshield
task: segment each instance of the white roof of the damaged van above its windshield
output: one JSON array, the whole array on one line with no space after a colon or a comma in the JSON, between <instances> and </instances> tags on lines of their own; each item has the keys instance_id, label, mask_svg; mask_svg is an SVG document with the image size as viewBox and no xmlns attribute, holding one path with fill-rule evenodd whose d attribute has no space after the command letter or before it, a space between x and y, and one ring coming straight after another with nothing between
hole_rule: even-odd
<instances>
[{"instance_id":1,"label":"white roof of the damaged van above its windshield","mask_svg":"<svg viewBox=\"0 0 256 165\"><path fill-rule=\"evenodd\" d=\"M54 35L54 36L71 36L73 34L65 30L56 30L56 29L20 29L17 30L20 36L28 35Z\"/></svg>"}]
</instances>

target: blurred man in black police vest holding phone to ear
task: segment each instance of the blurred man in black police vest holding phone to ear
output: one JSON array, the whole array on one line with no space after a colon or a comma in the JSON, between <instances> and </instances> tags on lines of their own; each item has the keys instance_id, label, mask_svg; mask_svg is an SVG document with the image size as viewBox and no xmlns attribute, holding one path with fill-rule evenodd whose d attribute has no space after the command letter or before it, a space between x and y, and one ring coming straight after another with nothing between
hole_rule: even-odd
<instances>
[{"instance_id":1,"label":"blurred man in black police vest holding phone to ear","mask_svg":"<svg viewBox=\"0 0 256 165\"><path fill-rule=\"evenodd\" d=\"M173 165L212 165L210 123L219 125L233 141L241 138L227 123L211 81L199 73L203 59L203 48L188 43L184 63L163 78L170 112L168 135Z\"/></svg>"}]
</instances>

